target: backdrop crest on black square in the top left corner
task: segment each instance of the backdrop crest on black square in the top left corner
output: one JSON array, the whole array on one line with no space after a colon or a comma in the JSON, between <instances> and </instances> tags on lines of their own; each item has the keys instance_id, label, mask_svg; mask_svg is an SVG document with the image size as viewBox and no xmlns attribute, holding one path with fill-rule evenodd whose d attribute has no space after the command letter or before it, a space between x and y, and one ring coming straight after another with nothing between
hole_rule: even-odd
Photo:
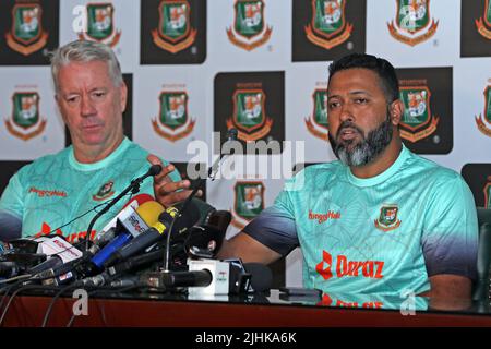
<instances>
[{"instance_id":1,"label":"backdrop crest on black square in the top left corner","mask_svg":"<svg viewBox=\"0 0 491 349\"><path fill-rule=\"evenodd\" d=\"M38 3L15 4L12 9L12 31L5 34L7 45L14 51L28 56L48 41L43 31L43 9Z\"/></svg>"}]
</instances>

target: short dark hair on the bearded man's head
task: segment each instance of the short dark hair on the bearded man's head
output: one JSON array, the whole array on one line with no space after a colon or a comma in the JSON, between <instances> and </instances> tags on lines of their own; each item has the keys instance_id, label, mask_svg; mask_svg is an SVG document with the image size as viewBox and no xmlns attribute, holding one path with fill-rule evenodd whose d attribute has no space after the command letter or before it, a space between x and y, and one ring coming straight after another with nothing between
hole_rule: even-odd
<instances>
[{"instance_id":1,"label":"short dark hair on the bearded man's head","mask_svg":"<svg viewBox=\"0 0 491 349\"><path fill-rule=\"evenodd\" d=\"M339 58L330 65L330 80L338 71L363 68L376 73L387 104L399 98L399 82L394 67L385 59L366 53L351 53Z\"/></svg>"}]
</instances>

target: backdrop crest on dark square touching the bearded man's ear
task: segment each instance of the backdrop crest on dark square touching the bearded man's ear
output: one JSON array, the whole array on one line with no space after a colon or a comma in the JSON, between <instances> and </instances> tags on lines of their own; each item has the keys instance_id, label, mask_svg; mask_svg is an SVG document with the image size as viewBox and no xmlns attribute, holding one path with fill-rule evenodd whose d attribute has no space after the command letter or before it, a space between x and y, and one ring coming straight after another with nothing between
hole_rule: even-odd
<instances>
[{"instance_id":1,"label":"backdrop crest on dark square touching the bearded man's ear","mask_svg":"<svg viewBox=\"0 0 491 349\"><path fill-rule=\"evenodd\" d=\"M400 120L400 136L415 143L436 131L440 119L431 115L431 92L426 84L411 86L400 81L400 85L399 98L405 107Z\"/></svg>"}]
</instances>

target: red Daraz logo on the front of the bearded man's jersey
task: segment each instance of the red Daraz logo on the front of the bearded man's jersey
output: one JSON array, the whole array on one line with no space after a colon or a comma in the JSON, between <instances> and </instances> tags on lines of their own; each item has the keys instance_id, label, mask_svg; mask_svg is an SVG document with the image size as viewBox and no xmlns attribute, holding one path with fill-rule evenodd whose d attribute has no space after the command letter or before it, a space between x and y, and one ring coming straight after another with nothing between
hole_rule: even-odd
<instances>
[{"instance_id":1,"label":"red Daraz logo on the front of the bearded man's jersey","mask_svg":"<svg viewBox=\"0 0 491 349\"><path fill-rule=\"evenodd\" d=\"M334 263L336 265L333 270ZM383 278L384 262L382 261L349 261L346 255L339 254L335 261L331 253L322 251L322 261L315 266L315 270L324 278L328 280L334 276L340 277L367 277L381 279Z\"/></svg>"}]
</instances>

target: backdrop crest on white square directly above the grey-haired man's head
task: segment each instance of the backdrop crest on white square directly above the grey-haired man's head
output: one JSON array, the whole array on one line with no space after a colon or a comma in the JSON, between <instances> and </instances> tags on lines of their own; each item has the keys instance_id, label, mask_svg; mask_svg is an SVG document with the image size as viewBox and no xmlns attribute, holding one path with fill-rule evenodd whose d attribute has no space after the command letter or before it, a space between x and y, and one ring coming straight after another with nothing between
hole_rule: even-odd
<instances>
[{"instance_id":1,"label":"backdrop crest on white square directly above the grey-haired man's head","mask_svg":"<svg viewBox=\"0 0 491 349\"><path fill-rule=\"evenodd\" d=\"M115 29L115 7L111 3L89 3L86 10L87 29L80 33L79 38L116 46L121 37L121 31Z\"/></svg>"}]
</instances>

